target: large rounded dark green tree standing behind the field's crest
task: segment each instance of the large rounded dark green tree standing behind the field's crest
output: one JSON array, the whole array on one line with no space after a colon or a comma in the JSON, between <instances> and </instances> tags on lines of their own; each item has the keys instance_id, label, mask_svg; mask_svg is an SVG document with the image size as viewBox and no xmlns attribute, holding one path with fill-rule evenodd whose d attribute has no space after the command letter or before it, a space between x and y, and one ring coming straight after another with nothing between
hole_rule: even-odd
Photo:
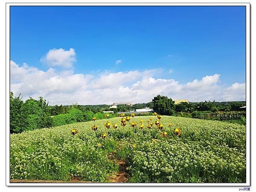
<instances>
[{"instance_id":1,"label":"large rounded dark green tree standing behind the field's crest","mask_svg":"<svg viewBox=\"0 0 256 192\"><path fill-rule=\"evenodd\" d=\"M175 104L171 98L166 96L156 96L152 99L154 103L154 111L158 111L162 115L174 115L175 114Z\"/></svg>"}]
</instances>

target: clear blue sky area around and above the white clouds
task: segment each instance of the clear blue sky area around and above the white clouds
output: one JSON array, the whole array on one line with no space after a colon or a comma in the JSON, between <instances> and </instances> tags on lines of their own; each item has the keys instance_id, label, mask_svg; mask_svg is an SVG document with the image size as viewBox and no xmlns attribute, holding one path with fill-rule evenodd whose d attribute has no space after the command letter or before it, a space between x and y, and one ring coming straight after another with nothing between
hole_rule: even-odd
<instances>
[{"instance_id":1,"label":"clear blue sky area around and above the white clouds","mask_svg":"<svg viewBox=\"0 0 256 192\"><path fill-rule=\"evenodd\" d=\"M56 67L41 59L49 50L70 48L75 50L71 67ZM102 74L156 69L151 78L174 79L185 86L218 74L212 85L227 89L245 83L245 7L15 6L11 7L11 60L43 72L52 67L58 76L66 70L94 76L92 81ZM142 79L119 86L131 88L137 81ZM21 79L17 82L22 84ZM34 93L38 96L38 91ZM51 99L50 93L47 96Z\"/></svg>"}]
</instances>

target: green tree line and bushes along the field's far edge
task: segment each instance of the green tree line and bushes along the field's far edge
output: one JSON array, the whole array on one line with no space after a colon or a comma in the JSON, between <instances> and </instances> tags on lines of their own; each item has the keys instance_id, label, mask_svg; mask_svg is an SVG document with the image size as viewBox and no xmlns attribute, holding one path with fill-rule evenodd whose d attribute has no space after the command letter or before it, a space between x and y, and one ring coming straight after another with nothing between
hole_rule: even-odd
<instances>
[{"instance_id":1,"label":"green tree line and bushes along the field's far edge","mask_svg":"<svg viewBox=\"0 0 256 192\"><path fill-rule=\"evenodd\" d=\"M193 113L195 111L216 112L216 111L241 111L245 102L181 102L177 105L167 96L155 96L152 102L130 105L117 105L111 109L114 114L111 117L119 116L117 112L132 111L140 108L153 108L161 115L174 116L176 113ZM75 122L90 121L93 116L97 119L105 118L103 111L110 111L109 105L68 105L48 106L46 99L39 97L38 100L29 97L22 100L21 94L15 97L10 93L10 132L21 133L34 129L49 128L52 126L65 125Z\"/></svg>"}]
</instances>

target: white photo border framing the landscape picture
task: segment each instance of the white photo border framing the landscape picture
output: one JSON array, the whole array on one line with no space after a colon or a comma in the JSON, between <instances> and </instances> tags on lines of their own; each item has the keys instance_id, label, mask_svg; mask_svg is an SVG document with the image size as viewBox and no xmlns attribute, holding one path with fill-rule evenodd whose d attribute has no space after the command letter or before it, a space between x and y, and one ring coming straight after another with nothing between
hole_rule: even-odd
<instances>
[{"instance_id":1,"label":"white photo border framing the landscape picture","mask_svg":"<svg viewBox=\"0 0 256 192\"><path fill-rule=\"evenodd\" d=\"M246 183L10 183L10 6L245 6L246 7ZM6 186L250 186L250 3L6 3Z\"/></svg>"}]
</instances>

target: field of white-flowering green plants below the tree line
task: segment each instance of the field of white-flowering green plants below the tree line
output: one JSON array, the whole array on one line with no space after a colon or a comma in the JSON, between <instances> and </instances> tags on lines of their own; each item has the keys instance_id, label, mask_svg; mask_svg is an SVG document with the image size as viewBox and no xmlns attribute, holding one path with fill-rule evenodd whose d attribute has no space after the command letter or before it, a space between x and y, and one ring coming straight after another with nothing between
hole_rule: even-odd
<instances>
[{"instance_id":1,"label":"field of white-flowering green plants below the tree line","mask_svg":"<svg viewBox=\"0 0 256 192\"><path fill-rule=\"evenodd\" d=\"M123 128L121 117L116 117L108 119L109 129L107 119L102 119L11 134L11 179L114 182L122 160L126 182L246 182L244 125L162 116L162 131L168 134L162 137L156 125L147 128L150 117L156 120L131 117L130 123L137 122L135 128L129 123ZM179 136L173 133L176 127ZM71 134L73 128L76 135Z\"/></svg>"}]
</instances>

